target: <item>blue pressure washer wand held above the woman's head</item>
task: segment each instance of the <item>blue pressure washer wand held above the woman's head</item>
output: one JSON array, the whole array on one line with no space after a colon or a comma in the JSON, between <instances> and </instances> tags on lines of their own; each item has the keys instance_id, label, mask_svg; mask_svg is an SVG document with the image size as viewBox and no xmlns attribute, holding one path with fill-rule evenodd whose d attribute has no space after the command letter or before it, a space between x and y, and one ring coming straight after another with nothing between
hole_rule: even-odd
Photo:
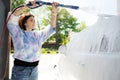
<instances>
[{"instance_id":1,"label":"blue pressure washer wand held above the woman's head","mask_svg":"<svg viewBox=\"0 0 120 80\"><path fill-rule=\"evenodd\" d=\"M40 7L42 5L52 5L51 2L44 2L44 1L36 1L37 6L33 7L32 4L29 2L27 6L31 9ZM64 5L64 4L58 4L60 7L66 7L66 8L71 8L71 9L79 9L79 6L73 6L73 5Z\"/></svg>"}]
</instances>

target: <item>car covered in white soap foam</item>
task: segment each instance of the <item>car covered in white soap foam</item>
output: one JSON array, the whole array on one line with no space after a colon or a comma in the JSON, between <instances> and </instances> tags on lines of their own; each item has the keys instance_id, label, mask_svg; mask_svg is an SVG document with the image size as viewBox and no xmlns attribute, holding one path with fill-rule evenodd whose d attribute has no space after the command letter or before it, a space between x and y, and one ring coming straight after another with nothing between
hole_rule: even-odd
<instances>
[{"instance_id":1,"label":"car covered in white soap foam","mask_svg":"<svg viewBox=\"0 0 120 80\"><path fill-rule=\"evenodd\" d=\"M120 16L100 16L59 50L61 80L120 80Z\"/></svg>"}]
</instances>

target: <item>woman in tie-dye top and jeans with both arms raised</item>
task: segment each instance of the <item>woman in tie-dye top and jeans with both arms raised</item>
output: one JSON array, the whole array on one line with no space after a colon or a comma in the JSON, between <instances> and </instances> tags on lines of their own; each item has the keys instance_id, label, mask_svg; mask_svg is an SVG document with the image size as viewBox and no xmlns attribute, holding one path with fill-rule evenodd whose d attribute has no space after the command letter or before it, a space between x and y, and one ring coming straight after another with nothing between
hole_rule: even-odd
<instances>
[{"instance_id":1,"label":"woman in tie-dye top and jeans with both arms raised","mask_svg":"<svg viewBox=\"0 0 120 80\"><path fill-rule=\"evenodd\" d=\"M33 5L36 5L33 3ZM17 9L8 22L8 30L14 44L14 66L11 80L38 80L38 63L42 44L56 28L57 2L52 3L51 25L43 31L35 31L34 15L20 15L27 6Z\"/></svg>"}]
</instances>

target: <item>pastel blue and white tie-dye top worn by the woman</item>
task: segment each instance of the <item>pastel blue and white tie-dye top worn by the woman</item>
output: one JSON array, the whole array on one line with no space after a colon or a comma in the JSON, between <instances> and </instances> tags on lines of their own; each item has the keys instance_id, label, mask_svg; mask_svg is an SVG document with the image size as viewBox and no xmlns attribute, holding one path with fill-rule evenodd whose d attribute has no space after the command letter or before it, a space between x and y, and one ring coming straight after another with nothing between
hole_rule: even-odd
<instances>
[{"instance_id":1,"label":"pastel blue and white tie-dye top worn by the woman","mask_svg":"<svg viewBox=\"0 0 120 80\"><path fill-rule=\"evenodd\" d=\"M8 30L14 44L14 58L26 62L39 61L42 44L55 32L51 26L41 31L27 32L18 25L18 16L12 15L8 22Z\"/></svg>"}]
</instances>

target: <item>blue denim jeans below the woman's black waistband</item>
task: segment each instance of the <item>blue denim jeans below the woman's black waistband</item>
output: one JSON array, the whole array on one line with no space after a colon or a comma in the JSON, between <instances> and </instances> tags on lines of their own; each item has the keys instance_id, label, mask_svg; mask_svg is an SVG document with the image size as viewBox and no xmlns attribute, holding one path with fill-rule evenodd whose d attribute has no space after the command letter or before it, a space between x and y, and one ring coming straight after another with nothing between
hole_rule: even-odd
<instances>
[{"instance_id":1,"label":"blue denim jeans below the woman's black waistband","mask_svg":"<svg viewBox=\"0 0 120 80\"><path fill-rule=\"evenodd\" d=\"M11 80L38 80L38 67L13 66Z\"/></svg>"}]
</instances>

